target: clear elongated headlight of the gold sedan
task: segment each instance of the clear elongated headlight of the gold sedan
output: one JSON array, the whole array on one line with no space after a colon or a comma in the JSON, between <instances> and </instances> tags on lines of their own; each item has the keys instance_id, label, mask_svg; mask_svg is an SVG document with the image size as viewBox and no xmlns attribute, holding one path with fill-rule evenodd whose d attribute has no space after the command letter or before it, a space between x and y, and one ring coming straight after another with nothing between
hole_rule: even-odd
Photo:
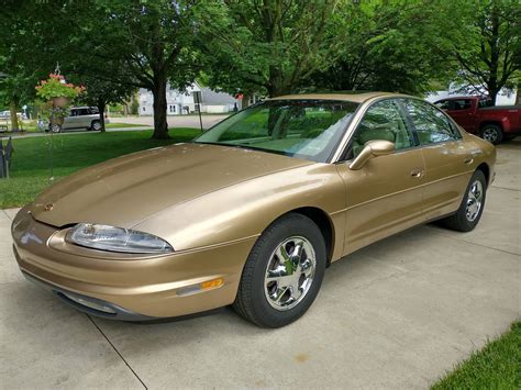
<instances>
[{"instance_id":1,"label":"clear elongated headlight of the gold sedan","mask_svg":"<svg viewBox=\"0 0 521 390\"><path fill-rule=\"evenodd\" d=\"M133 254L164 254L174 248L155 235L130 229L107 225L78 223L66 236L66 241L76 245L99 250Z\"/></svg>"}]
</instances>

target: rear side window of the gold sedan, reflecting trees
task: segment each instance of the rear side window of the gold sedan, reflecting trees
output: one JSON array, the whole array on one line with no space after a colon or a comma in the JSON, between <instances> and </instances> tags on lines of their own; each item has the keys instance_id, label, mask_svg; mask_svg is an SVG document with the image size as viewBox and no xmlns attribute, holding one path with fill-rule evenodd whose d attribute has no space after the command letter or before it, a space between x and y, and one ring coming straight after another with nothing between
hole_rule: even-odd
<instances>
[{"instance_id":1,"label":"rear side window of the gold sedan, reflecting trees","mask_svg":"<svg viewBox=\"0 0 521 390\"><path fill-rule=\"evenodd\" d=\"M448 118L431 104L421 100L406 100L404 105L414 124L421 145L461 137Z\"/></svg>"}]
</instances>

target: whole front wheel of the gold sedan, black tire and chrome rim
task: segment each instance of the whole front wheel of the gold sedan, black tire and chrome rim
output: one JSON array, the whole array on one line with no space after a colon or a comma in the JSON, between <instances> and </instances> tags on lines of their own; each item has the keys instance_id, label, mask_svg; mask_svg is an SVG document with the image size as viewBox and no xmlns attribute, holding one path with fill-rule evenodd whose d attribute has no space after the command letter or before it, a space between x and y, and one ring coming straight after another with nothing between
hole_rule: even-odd
<instances>
[{"instance_id":1,"label":"whole front wheel of the gold sedan, black tire and chrome rim","mask_svg":"<svg viewBox=\"0 0 521 390\"><path fill-rule=\"evenodd\" d=\"M233 308L262 327L290 324L317 298L325 259L325 242L317 224L297 213L282 216L250 253Z\"/></svg>"}]
</instances>

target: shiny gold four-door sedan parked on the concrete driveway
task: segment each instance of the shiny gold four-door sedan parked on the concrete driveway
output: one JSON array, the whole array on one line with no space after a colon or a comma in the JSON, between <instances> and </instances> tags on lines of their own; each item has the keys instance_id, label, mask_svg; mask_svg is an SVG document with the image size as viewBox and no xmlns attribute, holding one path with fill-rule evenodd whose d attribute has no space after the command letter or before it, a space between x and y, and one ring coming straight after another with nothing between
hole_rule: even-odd
<instances>
[{"instance_id":1,"label":"shiny gold four-door sedan parked on the concrete driveway","mask_svg":"<svg viewBox=\"0 0 521 390\"><path fill-rule=\"evenodd\" d=\"M95 315L233 304L278 327L309 309L332 261L429 221L473 230L495 160L417 98L285 96L59 181L16 215L14 254L27 279Z\"/></svg>"}]
</instances>

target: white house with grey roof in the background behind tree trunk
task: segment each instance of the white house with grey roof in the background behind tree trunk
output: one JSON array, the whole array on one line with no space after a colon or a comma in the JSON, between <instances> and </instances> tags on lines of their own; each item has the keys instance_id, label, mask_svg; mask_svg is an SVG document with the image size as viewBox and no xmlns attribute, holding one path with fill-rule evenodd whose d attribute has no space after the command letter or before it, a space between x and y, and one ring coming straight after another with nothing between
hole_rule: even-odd
<instances>
[{"instance_id":1,"label":"white house with grey roof in the background behind tree trunk","mask_svg":"<svg viewBox=\"0 0 521 390\"><path fill-rule=\"evenodd\" d=\"M200 87L197 82L188 87L186 91L170 89L167 86L166 101L167 115L180 115L197 112L197 97L200 96L201 112L224 113L233 111L235 103L241 109L241 101L231 94L212 91L210 88ZM151 91L140 89L140 115L154 115L154 97Z\"/></svg>"}]
</instances>

